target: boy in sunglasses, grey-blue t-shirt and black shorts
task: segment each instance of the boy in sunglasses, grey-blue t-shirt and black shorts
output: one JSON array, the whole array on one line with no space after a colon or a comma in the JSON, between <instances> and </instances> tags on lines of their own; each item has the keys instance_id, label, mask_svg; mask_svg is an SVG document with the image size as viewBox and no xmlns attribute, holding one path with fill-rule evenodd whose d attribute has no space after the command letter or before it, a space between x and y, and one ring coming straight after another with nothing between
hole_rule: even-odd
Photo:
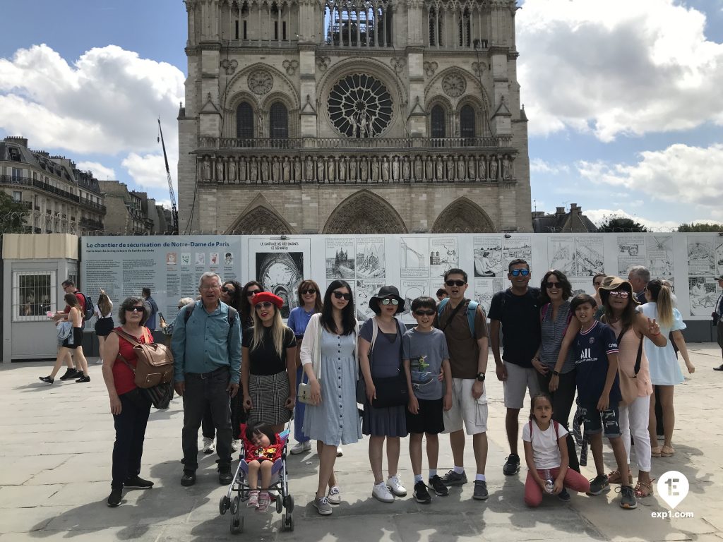
<instances>
[{"instance_id":1,"label":"boy in sunglasses, grey-blue t-shirt and black shorts","mask_svg":"<svg viewBox=\"0 0 723 542\"><path fill-rule=\"evenodd\" d=\"M442 410L452 408L452 369L444 332L432 327L437 303L431 297L418 297L411 302L416 326L402 337L402 362L409 389L406 426L409 431L409 457L414 473L414 498L429 504L427 486L422 477L422 436L427 435L429 487L437 495L448 494L447 486L437 476L439 440L445 429ZM440 382L440 371L444 381Z\"/></svg>"}]
</instances>

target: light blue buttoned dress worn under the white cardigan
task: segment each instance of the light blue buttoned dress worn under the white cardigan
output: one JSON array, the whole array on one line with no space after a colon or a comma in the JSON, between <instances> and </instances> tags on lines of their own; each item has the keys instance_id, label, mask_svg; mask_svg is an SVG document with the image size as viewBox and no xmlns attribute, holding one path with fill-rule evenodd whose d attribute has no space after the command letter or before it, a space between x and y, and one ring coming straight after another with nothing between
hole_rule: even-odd
<instances>
[{"instance_id":1,"label":"light blue buttoned dress worn under the white cardigan","mask_svg":"<svg viewBox=\"0 0 723 542\"><path fill-rule=\"evenodd\" d=\"M320 405L307 405L304 434L330 446L353 444L361 439L361 423L356 410L356 335L321 333Z\"/></svg>"}]
</instances>

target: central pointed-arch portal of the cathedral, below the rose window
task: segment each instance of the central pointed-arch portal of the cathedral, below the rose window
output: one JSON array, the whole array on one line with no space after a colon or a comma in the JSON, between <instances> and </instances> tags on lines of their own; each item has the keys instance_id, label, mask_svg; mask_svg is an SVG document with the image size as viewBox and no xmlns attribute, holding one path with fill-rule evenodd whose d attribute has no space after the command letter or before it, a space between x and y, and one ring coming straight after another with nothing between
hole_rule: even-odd
<instances>
[{"instance_id":1,"label":"central pointed-arch portal of the cathedral, below the rose window","mask_svg":"<svg viewBox=\"0 0 723 542\"><path fill-rule=\"evenodd\" d=\"M407 233L407 228L385 199L361 190L336 207L322 233Z\"/></svg>"}]
</instances>

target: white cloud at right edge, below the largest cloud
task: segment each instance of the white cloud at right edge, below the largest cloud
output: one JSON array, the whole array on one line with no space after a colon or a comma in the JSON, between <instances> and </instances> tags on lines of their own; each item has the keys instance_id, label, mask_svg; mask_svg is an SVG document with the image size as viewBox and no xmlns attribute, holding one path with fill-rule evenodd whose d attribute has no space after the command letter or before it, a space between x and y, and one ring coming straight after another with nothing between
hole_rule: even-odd
<instances>
[{"instance_id":1,"label":"white cloud at right edge, below the largest cloud","mask_svg":"<svg viewBox=\"0 0 723 542\"><path fill-rule=\"evenodd\" d=\"M652 199L694 205L698 212L719 216L723 201L723 145L671 145L640 153L633 165L602 161L577 164L593 183L648 194Z\"/></svg>"}]
</instances>

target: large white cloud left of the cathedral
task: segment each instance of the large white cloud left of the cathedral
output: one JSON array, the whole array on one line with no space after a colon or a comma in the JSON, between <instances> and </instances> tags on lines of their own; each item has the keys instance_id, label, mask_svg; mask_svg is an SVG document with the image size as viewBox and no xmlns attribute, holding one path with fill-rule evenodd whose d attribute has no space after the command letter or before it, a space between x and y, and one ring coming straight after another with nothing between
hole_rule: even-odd
<instances>
[{"instance_id":1,"label":"large white cloud left of the cathedral","mask_svg":"<svg viewBox=\"0 0 723 542\"><path fill-rule=\"evenodd\" d=\"M183 84L175 66L118 46L93 48L72 65L44 44L19 49L0 59L0 128L33 148L155 152L160 115L177 156Z\"/></svg>"}]
</instances>

